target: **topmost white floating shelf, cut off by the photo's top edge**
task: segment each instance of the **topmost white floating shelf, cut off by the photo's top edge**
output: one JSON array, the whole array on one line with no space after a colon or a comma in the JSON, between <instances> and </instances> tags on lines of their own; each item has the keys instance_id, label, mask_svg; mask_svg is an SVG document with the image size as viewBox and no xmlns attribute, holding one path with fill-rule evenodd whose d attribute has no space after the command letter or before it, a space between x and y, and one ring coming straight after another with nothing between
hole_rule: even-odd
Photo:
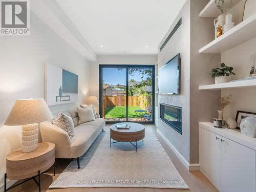
<instances>
[{"instance_id":1,"label":"topmost white floating shelf, cut off by the photo's top edge","mask_svg":"<svg viewBox=\"0 0 256 192\"><path fill-rule=\"evenodd\" d=\"M240 0L233 0L233 5L236 5ZM229 7L229 1L224 4L223 10L227 10ZM200 17L218 17L220 15L219 10L215 5L215 0L210 0L204 9L199 13Z\"/></svg>"}]
</instances>

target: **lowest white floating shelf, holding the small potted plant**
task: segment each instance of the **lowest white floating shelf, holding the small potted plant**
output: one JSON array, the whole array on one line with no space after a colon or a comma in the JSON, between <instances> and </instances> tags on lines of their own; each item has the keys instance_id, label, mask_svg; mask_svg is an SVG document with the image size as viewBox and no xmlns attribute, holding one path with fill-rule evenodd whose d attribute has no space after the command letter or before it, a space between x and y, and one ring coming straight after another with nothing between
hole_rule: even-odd
<instances>
[{"instance_id":1,"label":"lowest white floating shelf, holding the small potted plant","mask_svg":"<svg viewBox=\"0 0 256 192\"><path fill-rule=\"evenodd\" d=\"M256 87L256 79L208 84L206 86L199 86L199 90L242 89L252 87Z\"/></svg>"}]
</instances>

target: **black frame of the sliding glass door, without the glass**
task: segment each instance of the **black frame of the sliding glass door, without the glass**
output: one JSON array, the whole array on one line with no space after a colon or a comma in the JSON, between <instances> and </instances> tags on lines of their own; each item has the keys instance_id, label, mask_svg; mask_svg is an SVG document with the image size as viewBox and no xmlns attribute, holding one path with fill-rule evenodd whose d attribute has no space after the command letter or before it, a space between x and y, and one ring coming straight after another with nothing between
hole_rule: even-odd
<instances>
[{"instance_id":1,"label":"black frame of the sliding glass door, without the glass","mask_svg":"<svg viewBox=\"0 0 256 192\"><path fill-rule=\"evenodd\" d=\"M155 65L99 65L99 114L102 117L102 91L103 91L103 83L102 83L102 70L103 68L106 67L111 67L111 68L125 68L126 69L126 121L125 122L137 122L141 124L155 124ZM129 79L129 74L128 74L128 69L129 68L152 68L152 121L128 121L128 100L129 97L128 95L128 79ZM123 121L106 121L107 124L114 124L114 123L120 123Z\"/></svg>"}]
</instances>

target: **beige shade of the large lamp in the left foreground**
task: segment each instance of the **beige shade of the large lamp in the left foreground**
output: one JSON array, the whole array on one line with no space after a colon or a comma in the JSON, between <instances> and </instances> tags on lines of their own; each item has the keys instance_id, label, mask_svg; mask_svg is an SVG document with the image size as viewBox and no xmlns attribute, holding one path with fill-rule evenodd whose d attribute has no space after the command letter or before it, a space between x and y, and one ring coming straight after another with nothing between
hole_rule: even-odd
<instances>
[{"instance_id":1,"label":"beige shade of the large lamp in the left foreground","mask_svg":"<svg viewBox=\"0 0 256 192\"><path fill-rule=\"evenodd\" d=\"M16 100L5 125L26 125L52 119L45 99Z\"/></svg>"}]
</instances>

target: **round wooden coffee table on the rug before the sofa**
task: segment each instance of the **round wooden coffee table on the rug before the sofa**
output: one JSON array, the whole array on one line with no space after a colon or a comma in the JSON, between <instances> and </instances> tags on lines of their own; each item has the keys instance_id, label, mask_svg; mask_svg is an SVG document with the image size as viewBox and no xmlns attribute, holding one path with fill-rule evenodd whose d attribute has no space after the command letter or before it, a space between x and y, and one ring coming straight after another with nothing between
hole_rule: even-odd
<instances>
[{"instance_id":1,"label":"round wooden coffee table on the rug before the sofa","mask_svg":"<svg viewBox=\"0 0 256 192\"><path fill-rule=\"evenodd\" d=\"M130 129L117 129L117 124L129 124L131 125ZM145 126L139 123L116 123L110 127L110 147L112 143L117 142L130 142L135 146L137 152L137 141L142 140L145 137ZM111 139L114 139L115 142L111 142ZM135 142L133 144L132 142Z\"/></svg>"}]
</instances>

